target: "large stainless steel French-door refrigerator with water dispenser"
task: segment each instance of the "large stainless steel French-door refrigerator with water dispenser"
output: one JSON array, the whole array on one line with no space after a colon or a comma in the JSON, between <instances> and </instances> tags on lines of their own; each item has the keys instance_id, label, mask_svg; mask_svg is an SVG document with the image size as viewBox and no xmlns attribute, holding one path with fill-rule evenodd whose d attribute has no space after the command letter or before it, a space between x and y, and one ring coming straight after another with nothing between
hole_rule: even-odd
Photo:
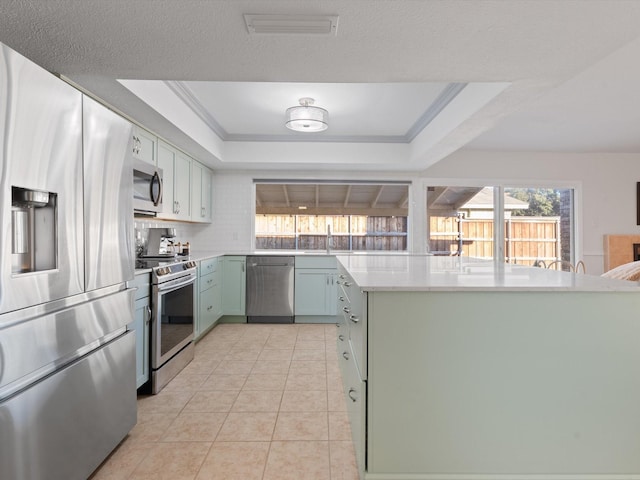
<instances>
[{"instance_id":1,"label":"large stainless steel French-door refrigerator with water dispenser","mask_svg":"<svg viewBox=\"0 0 640 480\"><path fill-rule=\"evenodd\" d=\"M0 478L85 479L136 423L131 138L0 44Z\"/></svg>"}]
</instances>

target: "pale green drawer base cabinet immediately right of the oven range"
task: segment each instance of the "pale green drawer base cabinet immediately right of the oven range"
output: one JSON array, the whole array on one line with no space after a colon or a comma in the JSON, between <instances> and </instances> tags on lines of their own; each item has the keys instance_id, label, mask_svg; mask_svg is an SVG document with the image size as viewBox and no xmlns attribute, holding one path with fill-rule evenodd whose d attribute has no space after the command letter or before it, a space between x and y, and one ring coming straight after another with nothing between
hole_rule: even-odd
<instances>
[{"instance_id":1,"label":"pale green drawer base cabinet immediately right of the oven range","mask_svg":"<svg viewBox=\"0 0 640 480\"><path fill-rule=\"evenodd\" d=\"M211 330L222 316L222 270L218 257L200 261L197 304L196 340Z\"/></svg>"}]
</instances>

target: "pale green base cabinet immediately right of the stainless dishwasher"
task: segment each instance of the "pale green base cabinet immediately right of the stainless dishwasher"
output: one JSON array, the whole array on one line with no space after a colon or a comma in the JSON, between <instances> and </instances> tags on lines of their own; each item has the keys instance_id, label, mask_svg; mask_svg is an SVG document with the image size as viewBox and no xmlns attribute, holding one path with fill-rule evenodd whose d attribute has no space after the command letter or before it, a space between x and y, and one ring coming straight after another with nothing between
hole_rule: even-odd
<instances>
[{"instance_id":1,"label":"pale green base cabinet immediately right of the stainless dishwasher","mask_svg":"<svg viewBox=\"0 0 640 480\"><path fill-rule=\"evenodd\" d=\"M295 265L296 323L333 323L337 266L333 255L298 255Z\"/></svg>"}]
</instances>

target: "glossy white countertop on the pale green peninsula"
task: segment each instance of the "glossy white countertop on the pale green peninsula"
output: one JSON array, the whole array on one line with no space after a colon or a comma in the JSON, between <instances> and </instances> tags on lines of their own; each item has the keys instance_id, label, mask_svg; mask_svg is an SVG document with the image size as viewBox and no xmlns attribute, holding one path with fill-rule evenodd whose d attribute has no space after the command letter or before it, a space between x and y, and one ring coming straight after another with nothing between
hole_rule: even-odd
<instances>
[{"instance_id":1,"label":"glossy white countertop on the pale green peninsula","mask_svg":"<svg viewBox=\"0 0 640 480\"><path fill-rule=\"evenodd\" d=\"M626 291L640 283L468 257L338 255L365 291Z\"/></svg>"}]
</instances>

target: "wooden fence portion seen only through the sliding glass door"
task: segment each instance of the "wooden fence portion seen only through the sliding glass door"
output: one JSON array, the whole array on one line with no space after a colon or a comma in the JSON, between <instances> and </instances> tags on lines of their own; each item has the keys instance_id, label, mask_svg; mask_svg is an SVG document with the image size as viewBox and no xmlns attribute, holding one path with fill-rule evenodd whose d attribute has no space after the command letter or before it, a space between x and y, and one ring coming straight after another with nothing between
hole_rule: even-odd
<instances>
[{"instance_id":1,"label":"wooden fence portion seen only through the sliding glass door","mask_svg":"<svg viewBox=\"0 0 640 480\"><path fill-rule=\"evenodd\" d=\"M493 258L493 219L431 217L429 248L436 255ZM512 217L505 220L505 260L533 265L560 260L560 217Z\"/></svg>"}]
</instances>

